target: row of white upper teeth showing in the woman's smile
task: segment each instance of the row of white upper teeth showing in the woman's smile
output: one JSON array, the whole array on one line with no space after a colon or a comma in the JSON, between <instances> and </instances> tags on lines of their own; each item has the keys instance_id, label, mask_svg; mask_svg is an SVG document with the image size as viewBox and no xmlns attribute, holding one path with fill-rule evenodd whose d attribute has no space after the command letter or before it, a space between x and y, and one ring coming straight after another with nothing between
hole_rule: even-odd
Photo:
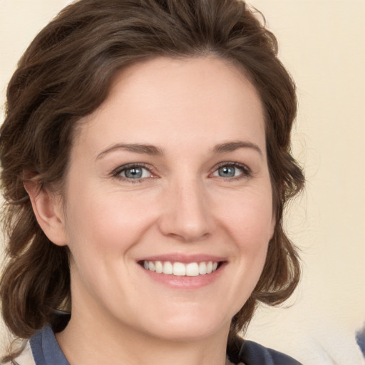
<instances>
[{"instance_id":1,"label":"row of white upper teeth showing in the woman's smile","mask_svg":"<svg viewBox=\"0 0 365 365\"><path fill-rule=\"evenodd\" d=\"M218 267L218 262L161 262L161 261L144 261L143 267L146 270L157 272L158 274L175 275L178 277L196 277L214 272Z\"/></svg>"}]
</instances>

